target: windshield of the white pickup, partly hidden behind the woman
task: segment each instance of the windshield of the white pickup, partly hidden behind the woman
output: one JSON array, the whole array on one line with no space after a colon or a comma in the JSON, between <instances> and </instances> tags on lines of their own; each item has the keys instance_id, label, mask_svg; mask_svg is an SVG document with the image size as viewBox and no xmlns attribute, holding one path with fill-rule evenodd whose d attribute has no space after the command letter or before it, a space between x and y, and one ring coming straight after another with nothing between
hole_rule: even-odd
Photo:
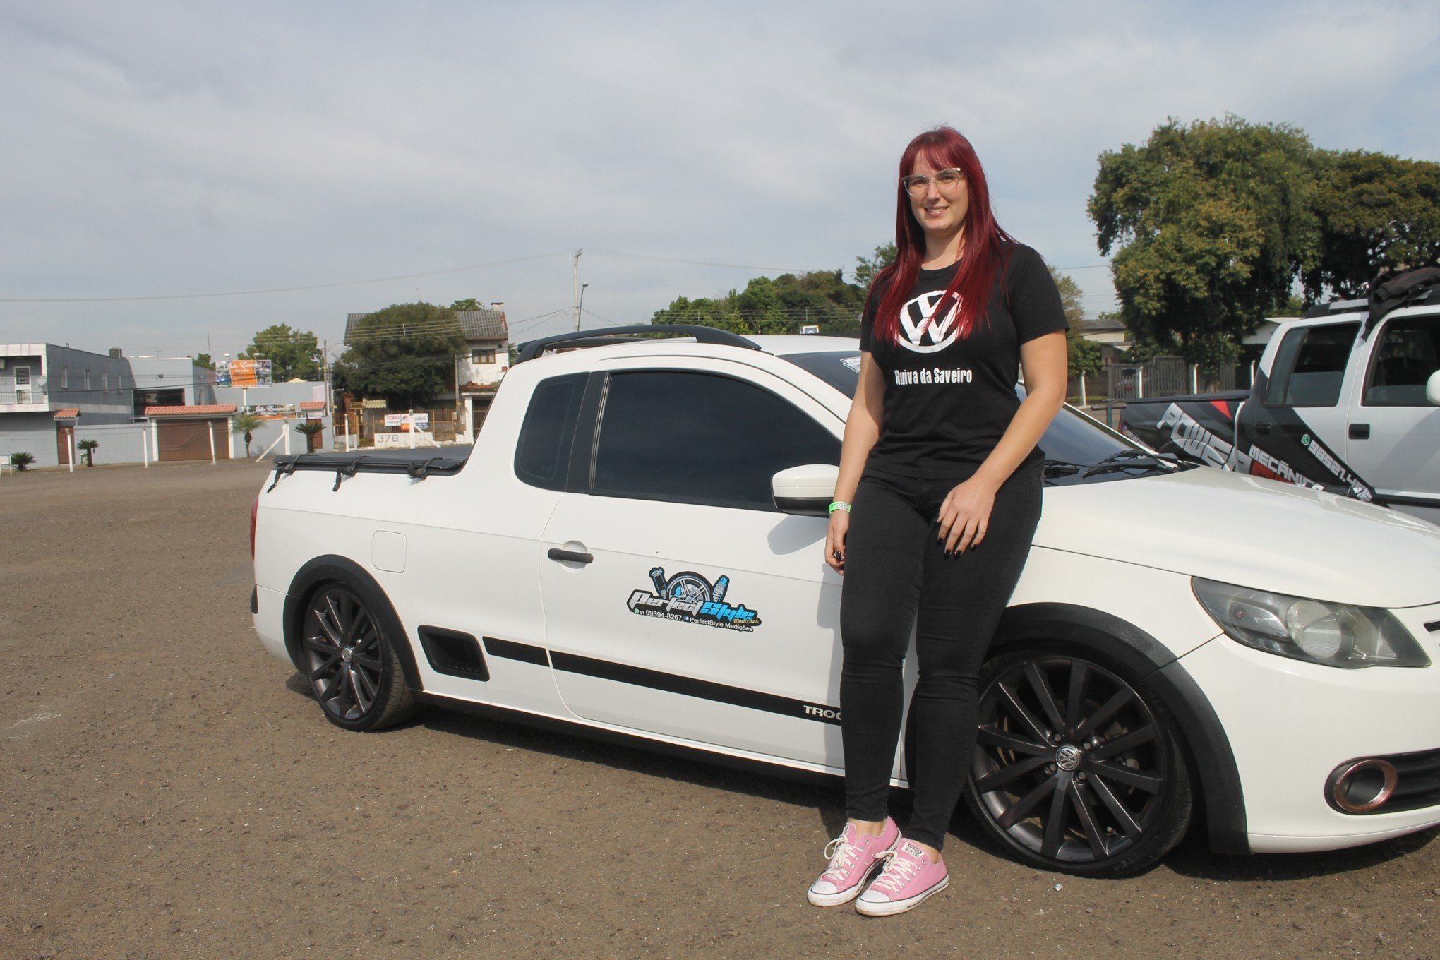
<instances>
[{"instance_id":1,"label":"windshield of the white pickup, partly hidden behind the woman","mask_svg":"<svg viewBox=\"0 0 1440 960\"><path fill-rule=\"evenodd\" d=\"M847 397L855 396L855 384L860 381L858 351L785 354L783 358L814 373ZM1025 389L1018 384L1015 391L1021 396L1025 394ZM1156 472L1153 461L1148 456L1136 456L1143 453L1145 448L1132 443L1070 404L1060 410L1045 435L1040 438L1040 452L1050 462L1045 471L1045 484L1048 485L1097 484ZM1136 458L1133 465L1129 465L1132 461L1128 458ZM1104 466L1097 471L1090 469L1097 465ZM1071 471L1070 466L1079 469ZM1164 469L1169 472L1171 468L1165 466Z\"/></svg>"}]
</instances>

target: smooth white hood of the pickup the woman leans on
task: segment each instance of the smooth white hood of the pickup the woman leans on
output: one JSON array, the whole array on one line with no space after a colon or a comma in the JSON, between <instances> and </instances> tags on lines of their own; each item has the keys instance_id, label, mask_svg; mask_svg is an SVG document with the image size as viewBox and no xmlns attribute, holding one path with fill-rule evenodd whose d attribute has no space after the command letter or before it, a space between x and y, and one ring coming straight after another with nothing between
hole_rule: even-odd
<instances>
[{"instance_id":1,"label":"smooth white hood of the pickup the woman leans on","mask_svg":"<svg viewBox=\"0 0 1440 960\"><path fill-rule=\"evenodd\" d=\"M1440 600L1440 527L1211 466L1047 488L1035 544L1336 603Z\"/></svg>"}]
</instances>

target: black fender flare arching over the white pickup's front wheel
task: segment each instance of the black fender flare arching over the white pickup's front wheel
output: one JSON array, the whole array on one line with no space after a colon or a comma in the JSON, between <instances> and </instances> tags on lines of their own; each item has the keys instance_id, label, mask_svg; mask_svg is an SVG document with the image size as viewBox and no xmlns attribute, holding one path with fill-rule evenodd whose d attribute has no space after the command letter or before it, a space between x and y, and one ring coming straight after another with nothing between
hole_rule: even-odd
<instances>
[{"instance_id":1,"label":"black fender flare arching over the white pickup's front wheel","mask_svg":"<svg viewBox=\"0 0 1440 960\"><path fill-rule=\"evenodd\" d=\"M1001 616L989 653L1025 640L1057 640L1113 661L1149 684L1179 724L1181 743L1195 761L1205 805L1210 846L1217 853L1248 853L1244 790L1230 737L1210 698L1174 652L1117 616L1073 603L1022 603Z\"/></svg>"}]
</instances>

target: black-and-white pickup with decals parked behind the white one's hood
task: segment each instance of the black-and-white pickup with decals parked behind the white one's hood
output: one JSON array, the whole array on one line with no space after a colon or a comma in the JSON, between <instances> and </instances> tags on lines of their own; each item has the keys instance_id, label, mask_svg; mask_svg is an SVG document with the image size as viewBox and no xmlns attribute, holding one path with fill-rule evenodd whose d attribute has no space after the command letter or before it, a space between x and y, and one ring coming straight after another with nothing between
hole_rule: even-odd
<instances>
[{"instance_id":1,"label":"black-and-white pickup with decals parked behind the white one's hood","mask_svg":"<svg viewBox=\"0 0 1440 960\"><path fill-rule=\"evenodd\" d=\"M1440 524L1440 266L1282 324L1250 390L1128 402L1122 430Z\"/></svg>"}]
</instances>

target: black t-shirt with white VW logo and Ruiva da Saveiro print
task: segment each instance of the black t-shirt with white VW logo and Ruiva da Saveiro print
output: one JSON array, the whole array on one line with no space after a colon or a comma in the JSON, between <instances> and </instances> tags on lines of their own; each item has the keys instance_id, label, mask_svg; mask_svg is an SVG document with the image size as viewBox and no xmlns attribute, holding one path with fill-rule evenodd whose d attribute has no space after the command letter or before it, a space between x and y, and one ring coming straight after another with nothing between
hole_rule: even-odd
<instances>
[{"instance_id":1,"label":"black t-shirt with white VW logo and Ruiva da Saveiro print","mask_svg":"<svg viewBox=\"0 0 1440 960\"><path fill-rule=\"evenodd\" d=\"M868 350L886 379L884 419L868 466L903 476L963 476L979 466L1009 426L1020 397L1020 345L1068 330L1060 291L1040 253L1008 248L1009 263L996 272L986 314L969 337L958 338L958 299L940 299L958 265L920 271L900 314L900 343L874 337L876 291L860 324L860 348ZM1040 459L1034 449L1022 463Z\"/></svg>"}]
</instances>

